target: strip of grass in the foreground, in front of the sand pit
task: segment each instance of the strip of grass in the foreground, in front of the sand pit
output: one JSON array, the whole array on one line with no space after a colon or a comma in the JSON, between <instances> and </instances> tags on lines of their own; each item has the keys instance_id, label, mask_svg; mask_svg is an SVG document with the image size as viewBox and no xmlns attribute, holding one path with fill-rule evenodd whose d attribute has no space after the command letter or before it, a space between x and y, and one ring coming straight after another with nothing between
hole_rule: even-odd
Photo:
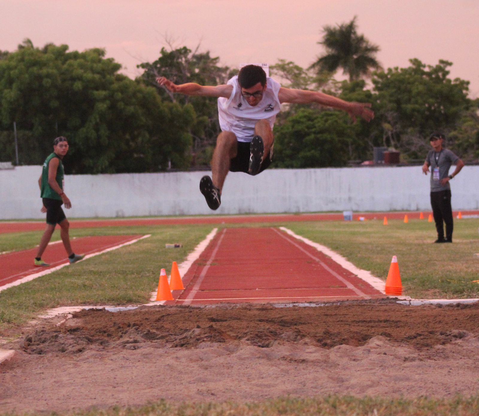
<instances>
[{"instance_id":1,"label":"strip of grass in the foreground, in front of the sand pit","mask_svg":"<svg viewBox=\"0 0 479 416\"><path fill-rule=\"evenodd\" d=\"M415 399L387 399L379 397L355 398L326 396L317 398L281 397L254 403L183 403L164 400L138 407L115 406L109 409L89 409L57 416L477 416L479 396L451 399L418 397ZM19 416L5 413L2 416ZM24 414L23 414L24 415ZM46 415L44 413L44 415Z\"/></svg>"}]
</instances>

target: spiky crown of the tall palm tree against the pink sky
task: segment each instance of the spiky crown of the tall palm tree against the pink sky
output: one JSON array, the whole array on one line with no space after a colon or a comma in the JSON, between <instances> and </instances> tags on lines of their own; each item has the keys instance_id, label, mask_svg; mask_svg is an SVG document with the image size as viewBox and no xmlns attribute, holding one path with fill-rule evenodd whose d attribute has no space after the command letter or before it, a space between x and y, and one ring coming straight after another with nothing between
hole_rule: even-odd
<instances>
[{"instance_id":1,"label":"spiky crown of the tall palm tree against the pink sky","mask_svg":"<svg viewBox=\"0 0 479 416\"><path fill-rule=\"evenodd\" d=\"M356 18L349 23L333 26L324 26L324 36L319 45L324 45L326 54L309 68L318 72L334 72L342 68L343 74L349 75L349 80L369 76L372 69L381 69L376 60L379 46L371 44L364 35L356 32Z\"/></svg>"}]
</instances>

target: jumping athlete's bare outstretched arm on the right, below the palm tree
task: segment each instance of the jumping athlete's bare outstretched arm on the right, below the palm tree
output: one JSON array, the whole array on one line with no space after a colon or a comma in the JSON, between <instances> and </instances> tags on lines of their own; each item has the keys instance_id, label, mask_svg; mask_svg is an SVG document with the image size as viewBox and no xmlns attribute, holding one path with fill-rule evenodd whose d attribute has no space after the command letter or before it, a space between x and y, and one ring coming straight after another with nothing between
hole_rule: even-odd
<instances>
[{"instance_id":1,"label":"jumping athlete's bare outstretched arm on the right, below the palm tree","mask_svg":"<svg viewBox=\"0 0 479 416\"><path fill-rule=\"evenodd\" d=\"M344 101L341 100L341 98L333 97L324 92L281 87L278 98L281 103L310 104L315 102L327 107L337 108L338 110L347 112L354 122L356 121L356 117L361 117L366 121L371 121L374 118L374 112L370 109L371 103Z\"/></svg>"}]
</instances>

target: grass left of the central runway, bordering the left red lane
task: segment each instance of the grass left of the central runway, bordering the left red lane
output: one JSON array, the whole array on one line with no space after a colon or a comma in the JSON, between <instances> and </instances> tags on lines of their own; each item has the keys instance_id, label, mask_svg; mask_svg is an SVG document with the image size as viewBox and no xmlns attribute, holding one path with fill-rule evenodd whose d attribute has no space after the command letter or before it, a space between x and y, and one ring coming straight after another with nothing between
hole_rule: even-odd
<instances>
[{"instance_id":1,"label":"grass left of the central runway, bordering the left red lane","mask_svg":"<svg viewBox=\"0 0 479 416\"><path fill-rule=\"evenodd\" d=\"M158 285L160 270L169 272L173 260L180 263L211 229L205 225L174 225L73 230L71 236L151 234L151 237L0 292L0 331L22 325L39 312L60 305L146 303ZM29 236L32 240L27 247L33 241L38 242L39 236L36 240ZM181 242L183 247L165 248L165 243L171 242Z\"/></svg>"}]
</instances>

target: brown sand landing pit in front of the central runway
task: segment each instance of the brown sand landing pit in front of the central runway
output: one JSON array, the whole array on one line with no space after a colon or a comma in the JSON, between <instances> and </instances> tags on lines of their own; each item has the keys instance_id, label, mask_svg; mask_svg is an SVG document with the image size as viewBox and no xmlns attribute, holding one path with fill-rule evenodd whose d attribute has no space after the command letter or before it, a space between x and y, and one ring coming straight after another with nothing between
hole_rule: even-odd
<instances>
[{"instance_id":1,"label":"brown sand landing pit in front of the central runway","mask_svg":"<svg viewBox=\"0 0 479 416\"><path fill-rule=\"evenodd\" d=\"M479 304L222 304L87 310L3 348L0 409L479 390Z\"/></svg>"}]
</instances>

